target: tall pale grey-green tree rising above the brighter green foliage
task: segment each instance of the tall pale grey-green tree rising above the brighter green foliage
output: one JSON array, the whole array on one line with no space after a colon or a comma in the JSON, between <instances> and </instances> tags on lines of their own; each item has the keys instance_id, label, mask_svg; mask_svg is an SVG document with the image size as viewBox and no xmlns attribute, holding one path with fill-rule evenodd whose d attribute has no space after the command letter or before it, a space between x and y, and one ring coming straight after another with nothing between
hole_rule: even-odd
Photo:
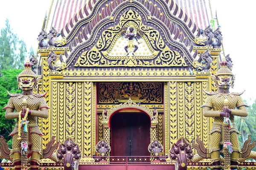
<instances>
[{"instance_id":1,"label":"tall pale grey-green tree rising above the brighter green foliage","mask_svg":"<svg viewBox=\"0 0 256 170\"><path fill-rule=\"evenodd\" d=\"M6 19L6 26L0 34L0 70L23 68L26 55L26 43L12 32L9 20Z\"/></svg>"}]
</instances>

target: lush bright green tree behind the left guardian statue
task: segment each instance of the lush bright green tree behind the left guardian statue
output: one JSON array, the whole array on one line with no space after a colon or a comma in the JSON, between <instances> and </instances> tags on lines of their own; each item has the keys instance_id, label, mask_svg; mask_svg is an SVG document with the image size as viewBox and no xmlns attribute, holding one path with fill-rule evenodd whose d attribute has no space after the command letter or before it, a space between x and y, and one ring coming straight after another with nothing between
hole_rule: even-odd
<instances>
[{"instance_id":1,"label":"lush bright green tree behind the left guardian statue","mask_svg":"<svg viewBox=\"0 0 256 170\"><path fill-rule=\"evenodd\" d=\"M1 71L0 108L4 108L9 101L10 96L6 91L9 91L12 94L21 93L17 86L17 75L20 74L21 71L22 70L11 68L3 69ZM9 134L12 132L15 122L15 119L5 119L5 110L0 109L0 134L7 141L10 148L12 146L12 137L9 136Z\"/></svg>"}]
</instances>

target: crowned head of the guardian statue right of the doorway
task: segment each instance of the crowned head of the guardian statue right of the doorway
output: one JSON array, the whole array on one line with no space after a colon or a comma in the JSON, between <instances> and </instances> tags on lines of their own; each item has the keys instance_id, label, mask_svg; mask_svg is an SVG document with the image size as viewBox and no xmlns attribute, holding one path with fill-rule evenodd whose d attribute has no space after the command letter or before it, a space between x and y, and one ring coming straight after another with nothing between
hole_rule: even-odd
<instances>
[{"instance_id":1,"label":"crowned head of the guardian statue right of the doorway","mask_svg":"<svg viewBox=\"0 0 256 170\"><path fill-rule=\"evenodd\" d=\"M220 65L221 68L213 75L215 84L220 88L233 88L235 76L228 68L226 59L222 59Z\"/></svg>"}]
</instances>

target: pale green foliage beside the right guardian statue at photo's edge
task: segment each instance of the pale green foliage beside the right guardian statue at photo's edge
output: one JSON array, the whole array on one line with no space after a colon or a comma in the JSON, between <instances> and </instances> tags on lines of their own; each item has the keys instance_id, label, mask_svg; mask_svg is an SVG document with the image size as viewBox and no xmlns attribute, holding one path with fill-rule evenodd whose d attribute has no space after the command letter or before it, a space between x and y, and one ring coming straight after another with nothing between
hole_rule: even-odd
<instances>
[{"instance_id":1,"label":"pale green foliage beside the right guardian statue at photo's edge","mask_svg":"<svg viewBox=\"0 0 256 170\"><path fill-rule=\"evenodd\" d=\"M252 140L256 140L256 99L253 101L253 104L247 108L247 112L247 117L235 116L236 127L241 133L239 137L240 146L243 146L248 135L251 135ZM256 150L256 148L253 148L253 150Z\"/></svg>"}]
</instances>

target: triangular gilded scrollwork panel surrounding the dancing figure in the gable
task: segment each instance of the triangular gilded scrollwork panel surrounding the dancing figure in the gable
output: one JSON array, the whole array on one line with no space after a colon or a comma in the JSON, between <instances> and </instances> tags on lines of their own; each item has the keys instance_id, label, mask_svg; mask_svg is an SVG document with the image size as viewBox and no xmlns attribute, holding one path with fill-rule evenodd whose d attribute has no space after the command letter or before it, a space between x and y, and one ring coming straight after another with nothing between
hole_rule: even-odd
<instances>
[{"instance_id":1,"label":"triangular gilded scrollwork panel surrounding the dancing figure in the gable","mask_svg":"<svg viewBox=\"0 0 256 170\"><path fill-rule=\"evenodd\" d=\"M165 44L159 31L151 26L145 26L140 15L134 10L129 10L124 12L116 26L105 28L96 45L84 51L75 66L170 67L187 65L179 52L172 51Z\"/></svg>"}]
</instances>

